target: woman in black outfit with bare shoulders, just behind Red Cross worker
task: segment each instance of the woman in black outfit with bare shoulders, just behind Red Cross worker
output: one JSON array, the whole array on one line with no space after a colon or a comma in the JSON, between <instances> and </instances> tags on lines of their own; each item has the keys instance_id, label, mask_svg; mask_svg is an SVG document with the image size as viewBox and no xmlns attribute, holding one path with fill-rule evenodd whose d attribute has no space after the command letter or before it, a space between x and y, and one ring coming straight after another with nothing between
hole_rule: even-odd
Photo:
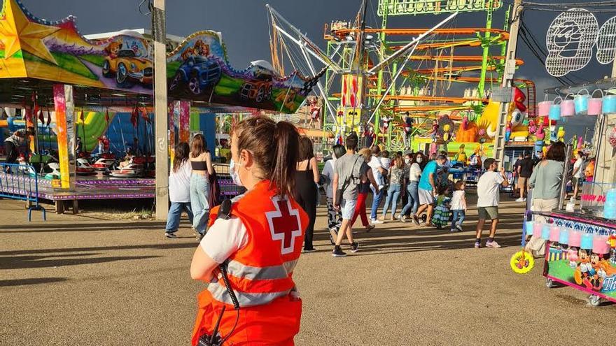
<instances>
[{"instance_id":1,"label":"woman in black outfit with bare shoulders, just behind Red Cross worker","mask_svg":"<svg viewBox=\"0 0 616 346\"><path fill-rule=\"evenodd\" d=\"M295 201L302 206L308 214L309 224L304 236L304 252L313 252L312 246L314 221L316 220L316 198L318 182L318 167L312 149L312 140L308 137L300 138L300 157L295 171Z\"/></svg>"}]
</instances>

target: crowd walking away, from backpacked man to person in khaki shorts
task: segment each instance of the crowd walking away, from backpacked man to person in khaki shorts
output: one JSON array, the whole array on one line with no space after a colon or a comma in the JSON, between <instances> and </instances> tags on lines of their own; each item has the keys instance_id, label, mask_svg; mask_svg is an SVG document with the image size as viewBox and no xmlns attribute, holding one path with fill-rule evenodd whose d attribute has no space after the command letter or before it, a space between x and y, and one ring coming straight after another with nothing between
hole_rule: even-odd
<instances>
[{"instance_id":1,"label":"crowd walking away, from backpacked man to person in khaki shorts","mask_svg":"<svg viewBox=\"0 0 616 346\"><path fill-rule=\"evenodd\" d=\"M416 226L447 228L463 231L468 208L465 183L449 179L451 161L446 152L432 155L423 152L388 152L378 146L358 150L359 138L350 134L344 141L346 148L335 145L332 159L325 162L321 182L328 197L328 228L334 245L332 256L344 257L344 238L351 252L358 251L353 239L353 227L360 217L366 231L386 221L411 221ZM500 186L508 185L505 172L497 169L498 162L484 161L486 172L479 178L479 222L475 247L481 247L482 226L491 221L486 247L500 247L494 236L498 224L498 196ZM367 217L367 196L372 192L370 218ZM381 203L383 202L384 203ZM398 206L400 212L398 213ZM379 208L381 209L379 216Z\"/></svg>"}]
</instances>

